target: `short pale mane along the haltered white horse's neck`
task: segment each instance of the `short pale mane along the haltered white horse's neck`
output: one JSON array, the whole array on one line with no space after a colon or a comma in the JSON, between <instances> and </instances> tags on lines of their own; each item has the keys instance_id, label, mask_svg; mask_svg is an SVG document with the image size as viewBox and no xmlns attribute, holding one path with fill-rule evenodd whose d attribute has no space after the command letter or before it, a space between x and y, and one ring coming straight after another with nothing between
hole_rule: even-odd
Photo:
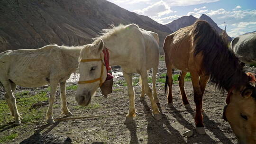
<instances>
[{"instance_id":1,"label":"short pale mane along the haltered white horse's neck","mask_svg":"<svg viewBox=\"0 0 256 144\"><path fill-rule=\"evenodd\" d=\"M92 44L98 44L101 39L108 39L113 35L118 35L119 33L121 33L123 30L125 29L129 29L128 27L137 27L139 28L136 24L129 24L129 25L123 25L123 24L119 24L119 26L115 27L114 25L109 25L110 28L109 29L102 29L101 36L92 38L93 43Z\"/></svg>"}]
</instances>

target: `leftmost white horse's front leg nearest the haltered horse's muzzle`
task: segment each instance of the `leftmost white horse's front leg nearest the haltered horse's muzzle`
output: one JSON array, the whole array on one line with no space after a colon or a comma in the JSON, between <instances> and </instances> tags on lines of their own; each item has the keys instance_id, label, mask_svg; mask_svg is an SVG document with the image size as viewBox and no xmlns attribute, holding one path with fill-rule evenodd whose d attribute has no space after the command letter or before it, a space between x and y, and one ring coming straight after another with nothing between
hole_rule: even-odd
<instances>
[{"instance_id":1,"label":"leftmost white horse's front leg nearest the haltered horse's muzzle","mask_svg":"<svg viewBox=\"0 0 256 144\"><path fill-rule=\"evenodd\" d=\"M66 102L66 81L60 82L60 90L61 90L61 102L62 102L61 108L62 108L62 112L66 116L72 116L73 114L67 108L67 102Z\"/></svg>"}]
</instances>

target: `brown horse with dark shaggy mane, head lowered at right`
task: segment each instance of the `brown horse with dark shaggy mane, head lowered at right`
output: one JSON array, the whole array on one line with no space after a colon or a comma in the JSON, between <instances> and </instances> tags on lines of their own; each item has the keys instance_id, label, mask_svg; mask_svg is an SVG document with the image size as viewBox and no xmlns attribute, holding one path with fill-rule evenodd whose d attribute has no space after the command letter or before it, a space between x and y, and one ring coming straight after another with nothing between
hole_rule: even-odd
<instances>
[{"instance_id":1,"label":"brown horse with dark shaggy mane, head lowered at right","mask_svg":"<svg viewBox=\"0 0 256 144\"><path fill-rule=\"evenodd\" d=\"M224 117L227 116L238 140L243 144L256 144L256 90L249 85L251 79L243 72L238 59L212 27L206 21L197 21L192 26L179 29L165 38L164 52L169 107L173 106L174 67L182 71L179 87L183 104L189 107L184 77L190 72L196 104L196 131L205 134L201 114L202 96L210 78L219 90L229 91Z\"/></svg>"}]
</instances>

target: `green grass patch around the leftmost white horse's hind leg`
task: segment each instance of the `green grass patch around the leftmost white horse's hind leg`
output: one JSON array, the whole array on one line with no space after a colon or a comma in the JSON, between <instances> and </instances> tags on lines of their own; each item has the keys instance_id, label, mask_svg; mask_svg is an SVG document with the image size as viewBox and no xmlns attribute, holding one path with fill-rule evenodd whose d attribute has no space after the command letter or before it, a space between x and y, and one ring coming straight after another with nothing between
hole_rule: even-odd
<instances>
[{"instance_id":1,"label":"green grass patch around the leftmost white horse's hind leg","mask_svg":"<svg viewBox=\"0 0 256 144\"><path fill-rule=\"evenodd\" d=\"M18 92L16 95L16 102L19 114L23 120L21 122L31 122L41 120L45 117L47 107L39 107L37 109L31 106L39 101L48 100L46 91L39 91L36 95L29 95L28 91ZM0 124L14 121L10 115L9 107L5 100L0 100Z\"/></svg>"}]
</instances>

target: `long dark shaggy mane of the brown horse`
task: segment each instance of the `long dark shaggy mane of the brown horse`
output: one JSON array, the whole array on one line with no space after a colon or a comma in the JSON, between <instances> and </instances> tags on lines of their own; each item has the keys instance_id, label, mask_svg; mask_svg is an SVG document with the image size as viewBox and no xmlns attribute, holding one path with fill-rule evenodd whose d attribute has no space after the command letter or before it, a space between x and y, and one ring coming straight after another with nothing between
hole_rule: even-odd
<instances>
[{"instance_id":1,"label":"long dark shaggy mane of the brown horse","mask_svg":"<svg viewBox=\"0 0 256 144\"><path fill-rule=\"evenodd\" d=\"M194 56L199 53L203 55L202 67L210 74L210 81L215 83L216 88L224 92L233 86L249 83L250 77L243 71L238 58L208 22L196 21L191 34Z\"/></svg>"}]
</instances>

